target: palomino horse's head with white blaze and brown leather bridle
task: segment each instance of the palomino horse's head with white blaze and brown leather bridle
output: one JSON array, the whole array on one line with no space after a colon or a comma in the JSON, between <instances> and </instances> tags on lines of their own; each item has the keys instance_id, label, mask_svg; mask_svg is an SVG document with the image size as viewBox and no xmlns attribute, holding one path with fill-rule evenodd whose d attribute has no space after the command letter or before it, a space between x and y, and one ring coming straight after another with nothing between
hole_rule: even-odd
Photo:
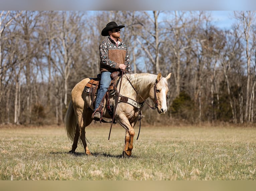
<instances>
[{"instance_id":1,"label":"palomino horse's head with white blaze and brown leather bridle","mask_svg":"<svg viewBox=\"0 0 256 191\"><path fill-rule=\"evenodd\" d=\"M149 97L154 101L157 111L160 114L164 114L167 111L167 92L168 83L167 80L170 78L171 73L167 77L162 77L161 73L157 75L154 87L150 91Z\"/></svg>"}]
</instances>

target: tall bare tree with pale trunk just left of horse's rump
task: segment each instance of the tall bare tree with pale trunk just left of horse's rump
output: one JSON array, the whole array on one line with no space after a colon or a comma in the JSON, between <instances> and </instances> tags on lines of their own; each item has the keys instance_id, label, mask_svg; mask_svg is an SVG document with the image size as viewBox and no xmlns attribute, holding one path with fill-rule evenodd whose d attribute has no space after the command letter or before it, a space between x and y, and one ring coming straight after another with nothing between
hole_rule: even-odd
<instances>
[{"instance_id":1,"label":"tall bare tree with pale trunk just left of horse's rump","mask_svg":"<svg viewBox=\"0 0 256 191\"><path fill-rule=\"evenodd\" d=\"M70 70L75 64L75 60L81 54L81 27L83 14L81 12L62 11L58 15L58 23L54 26L58 36L54 39L56 59L54 67L63 77L64 82L64 106L67 107L68 99L68 79Z\"/></svg>"}]
</instances>

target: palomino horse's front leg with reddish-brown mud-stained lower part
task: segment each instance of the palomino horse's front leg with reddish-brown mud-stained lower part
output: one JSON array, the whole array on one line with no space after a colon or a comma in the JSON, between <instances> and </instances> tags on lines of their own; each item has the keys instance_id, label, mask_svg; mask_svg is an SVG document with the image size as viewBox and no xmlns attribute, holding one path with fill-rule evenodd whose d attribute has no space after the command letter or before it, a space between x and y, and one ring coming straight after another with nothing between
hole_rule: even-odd
<instances>
[{"instance_id":1,"label":"palomino horse's front leg with reddish-brown mud-stained lower part","mask_svg":"<svg viewBox=\"0 0 256 191\"><path fill-rule=\"evenodd\" d=\"M133 149L133 137L135 135L134 129L124 114L120 114L119 123L126 129L123 156L131 156Z\"/></svg>"}]
</instances>

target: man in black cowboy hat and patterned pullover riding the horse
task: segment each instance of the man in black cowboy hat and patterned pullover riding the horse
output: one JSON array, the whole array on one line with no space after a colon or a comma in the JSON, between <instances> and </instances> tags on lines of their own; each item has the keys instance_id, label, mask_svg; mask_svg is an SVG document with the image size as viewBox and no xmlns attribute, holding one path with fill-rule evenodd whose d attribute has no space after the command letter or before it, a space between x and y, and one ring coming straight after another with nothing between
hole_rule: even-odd
<instances>
[{"instance_id":1,"label":"man in black cowboy hat and patterned pullover riding the horse","mask_svg":"<svg viewBox=\"0 0 256 191\"><path fill-rule=\"evenodd\" d=\"M101 32L102 36L108 36L108 38L99 47L101 81L92 115L92 118L96 121L101 119L101 112L98 111L98 108L111 83L111 73L125 69L132 73L127 47L122 39L120 39L120 29L124 27L124 25L118 26L116 22L112 21Z\"/></svg>"}]
</instances>

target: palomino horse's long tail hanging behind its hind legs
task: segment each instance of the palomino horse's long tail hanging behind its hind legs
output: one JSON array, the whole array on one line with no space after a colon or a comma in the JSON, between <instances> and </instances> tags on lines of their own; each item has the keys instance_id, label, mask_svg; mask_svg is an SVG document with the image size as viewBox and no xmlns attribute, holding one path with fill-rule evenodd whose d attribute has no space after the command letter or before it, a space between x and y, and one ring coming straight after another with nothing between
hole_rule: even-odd
<instances>
[{"instance_id":1,"label":"palomino horse's long tail hanging behind its hind legs","mask_svg":"<svg viewBox=\"0 0 256 191\"><path fill-rule=\"evenodd\" d=\"M74 140L75 132L77 128L77 116L75 114L72 101L70 101L69 108L64 118L64 126L65 126L65 130L67 132L69 140Z\"/></svg>"}]
</instances>

